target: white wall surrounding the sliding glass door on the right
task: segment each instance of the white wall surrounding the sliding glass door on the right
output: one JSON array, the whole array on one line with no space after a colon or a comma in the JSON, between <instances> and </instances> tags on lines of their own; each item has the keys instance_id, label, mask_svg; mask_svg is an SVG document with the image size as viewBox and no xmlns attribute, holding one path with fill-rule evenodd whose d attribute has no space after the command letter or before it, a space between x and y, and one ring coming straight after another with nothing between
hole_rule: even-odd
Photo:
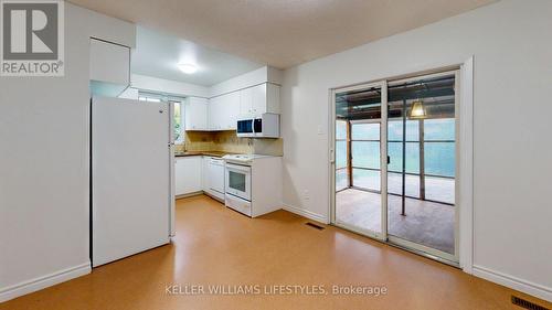
<instances>
[{"instance_id":1,"label":"white wall surrounding the sliding glass door on the right","mask_svg":"<svg viewBox=\"0 0 552 310\"><path fill-rule=\"evenodd\" d=\"M505 0L286 70L284 203L329 216L329 88L475 55L474 271L552 299L551 17L552 1Z\"/></svg>"}]
</instances>

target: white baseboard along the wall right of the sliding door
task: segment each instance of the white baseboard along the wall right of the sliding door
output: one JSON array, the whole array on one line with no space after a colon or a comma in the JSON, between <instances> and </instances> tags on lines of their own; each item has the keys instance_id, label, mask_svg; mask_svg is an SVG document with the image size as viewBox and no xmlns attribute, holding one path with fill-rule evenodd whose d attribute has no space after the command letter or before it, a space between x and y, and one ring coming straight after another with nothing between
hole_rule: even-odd
<instances>
[{"instance_id":1,"label":"white baseboard along the wall right of the sliding door","mask_svg":"<svg viewBox=\"0 0 552 310\"><path fill-rule=\"evenodd\" d=\"M474 265L474 276L552 302L552 288Z\"/></svg>"}]
</instances>

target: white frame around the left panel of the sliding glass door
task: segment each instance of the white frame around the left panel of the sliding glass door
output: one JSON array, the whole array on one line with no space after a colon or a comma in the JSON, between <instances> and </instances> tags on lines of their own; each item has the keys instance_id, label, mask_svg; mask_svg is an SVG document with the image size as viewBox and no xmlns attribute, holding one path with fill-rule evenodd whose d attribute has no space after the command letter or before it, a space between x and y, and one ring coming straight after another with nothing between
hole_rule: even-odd
<instances>
[{"instance_id":1,"label":"white frame around the left panel of the sliding glass door","mask_svg":"<svg viewBox=\"0 0 552 310\"><path fill-rule=\"evenodd\" d=\"M358 84L354 86L347 86L340 88L330 89L330 129L329 133L329 149L330 149L330 224L336 225L338 227L344 228L347 231L351 231L361 235L369 236L371 238L378 239L380 242L388 240L388 213L384 212L388 210L388 199L383 195L380 195L381 199L381 218L380 218L380 227L381 232L373 232L369 229L364 229L362 227L355 227L349 225L347 223L338 223L336 218L336 94L344 93L351 90L360 90L372 87L379 87L381 89L381 119L380 122L380 191L382 193L388 192L388 143L383 142L388 140L388 130L383 130L388 126L388 109L384 108L388 106L388 82L378 81L372 83ZM385 175L385 177L384 177Z\"/></svg>"}]
</instances>

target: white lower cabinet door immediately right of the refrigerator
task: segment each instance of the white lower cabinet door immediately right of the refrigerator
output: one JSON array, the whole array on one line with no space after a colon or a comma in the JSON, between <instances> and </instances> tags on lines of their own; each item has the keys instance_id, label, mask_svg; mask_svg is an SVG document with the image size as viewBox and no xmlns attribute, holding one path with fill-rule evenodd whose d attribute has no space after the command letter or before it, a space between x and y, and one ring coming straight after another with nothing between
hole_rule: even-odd
<instances>
[{"instance_id":1,"label":"white lower cabinet door immediately right of the refrigerator","mask_svg":"<svg viewBox=\"0 0 552 310\"><path fill-rule=\"evenodd\" d=\"M177 159L176 194L184 195L202 190L201 157L182 157Z\"/></svg>"}]
</instances>

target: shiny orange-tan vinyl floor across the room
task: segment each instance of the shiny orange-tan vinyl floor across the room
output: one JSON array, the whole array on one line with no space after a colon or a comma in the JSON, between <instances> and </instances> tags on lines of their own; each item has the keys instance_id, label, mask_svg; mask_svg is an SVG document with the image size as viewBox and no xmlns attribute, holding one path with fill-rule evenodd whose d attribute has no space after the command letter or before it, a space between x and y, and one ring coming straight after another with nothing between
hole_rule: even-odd
<instances>
[{"instance_id":1,"label":"shiny orange-tan vinyl floor across the room","mask_svg":"<svg viewBox=\"0 0 552 310\"><path fill-rule=\"evenodd\" d=\"M0 303L0 309L502 310L520 309L511 304L512 293L538 301L427 258L333 226L319 231L307 222L286 211L252 220L203 195L182 199L170 245ZM167 292L171 285L180 293ZM258 286L261 293L232 289L247 285ZM332 292L333 286L351 285L363 287L364 293ZM205 292L192 295L192 286ZM216 286L230 289L226 295L209 293ZM284 293L288 287L279 286L302 288L304 293ZM374 288L386 293L376 296ZM326 293L315 293L322 289Z\"/></svg>"}]
</instances>

